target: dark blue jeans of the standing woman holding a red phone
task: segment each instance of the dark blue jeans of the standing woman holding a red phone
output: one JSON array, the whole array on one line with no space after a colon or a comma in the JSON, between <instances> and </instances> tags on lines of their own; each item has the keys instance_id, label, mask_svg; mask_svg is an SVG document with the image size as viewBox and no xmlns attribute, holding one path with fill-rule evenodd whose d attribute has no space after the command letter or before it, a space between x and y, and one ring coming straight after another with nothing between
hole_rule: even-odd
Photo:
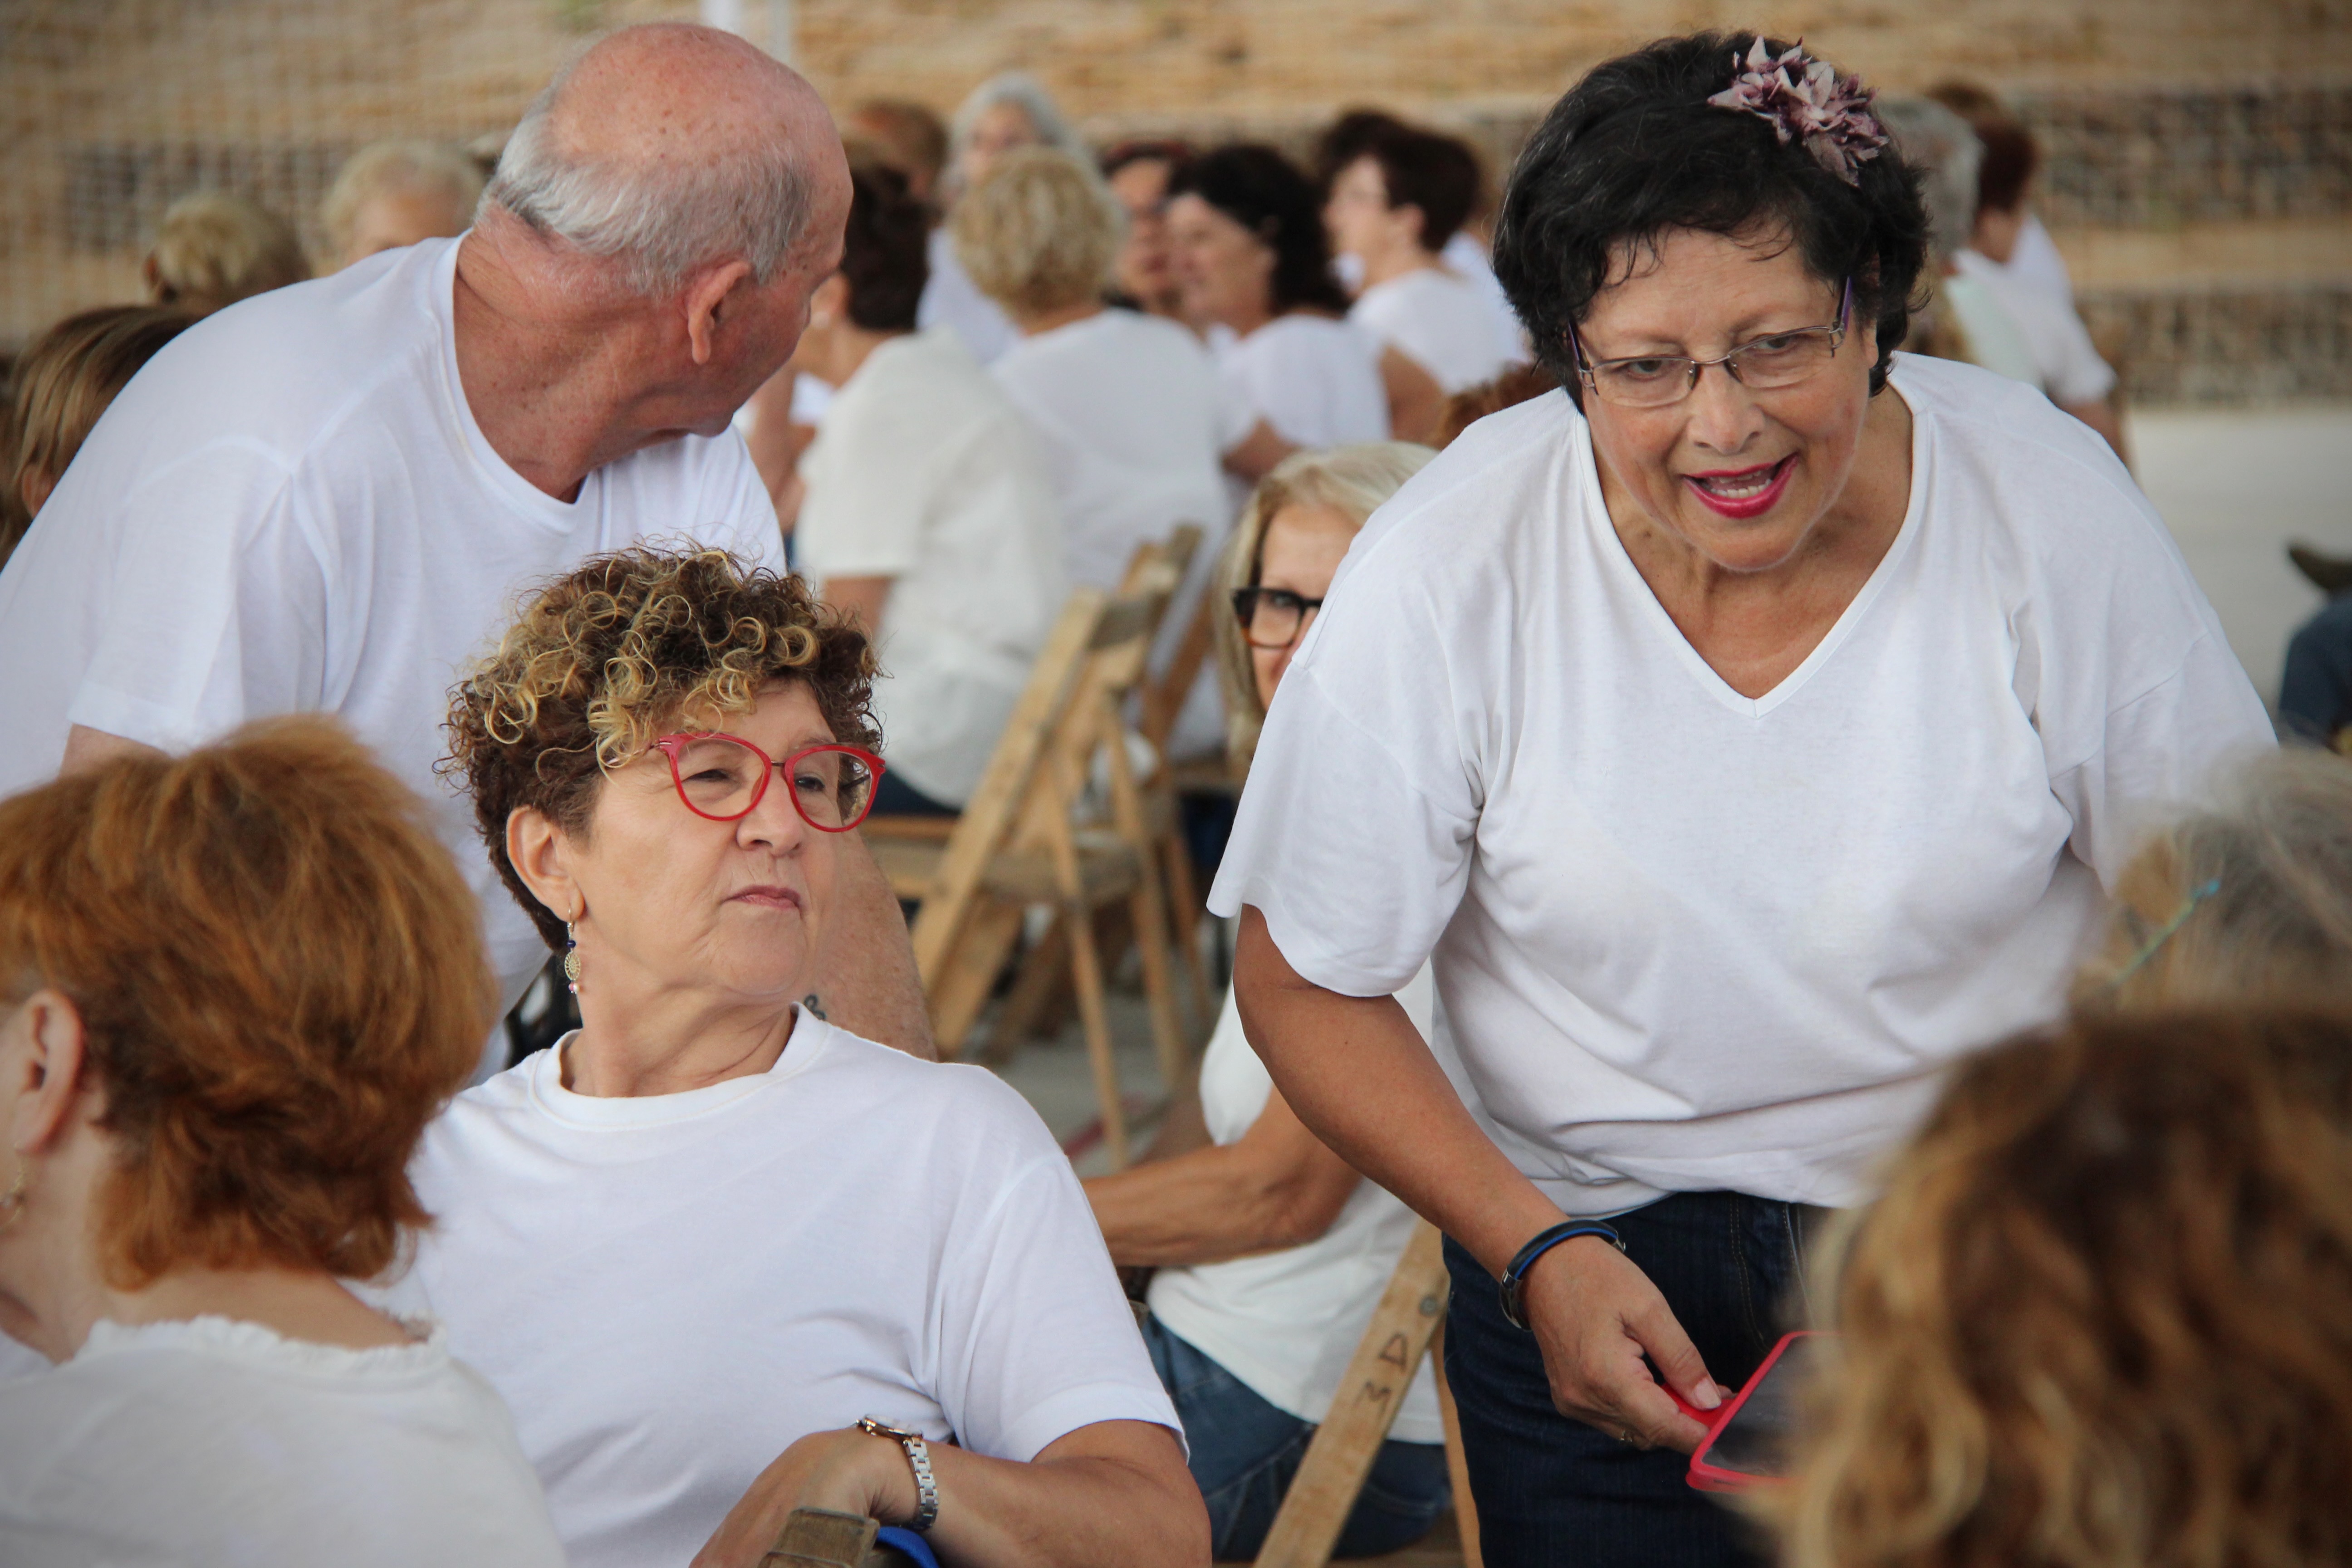
<instances>
[{"instance_id":1,"label":"dark blue jeans of the standing woman holding a red phone","mask_svg":"<svg viewBox=\"0 0 2352 1568\"><path fill-rule=\"evenodd\" d=\"M1708 1363L1740 1387L1802 1316L1804 1229L1818 1208L1677 1192L1609 1220ZM1752 1528L1689 1483L1691 1460L1639 1450L1552 1408L1536 1335L1494 1276L1446 1241L1446 1380L1461 1410L1479 1547L1496 1568L1762 1568Z\"/></svg>"}]
</instances>

